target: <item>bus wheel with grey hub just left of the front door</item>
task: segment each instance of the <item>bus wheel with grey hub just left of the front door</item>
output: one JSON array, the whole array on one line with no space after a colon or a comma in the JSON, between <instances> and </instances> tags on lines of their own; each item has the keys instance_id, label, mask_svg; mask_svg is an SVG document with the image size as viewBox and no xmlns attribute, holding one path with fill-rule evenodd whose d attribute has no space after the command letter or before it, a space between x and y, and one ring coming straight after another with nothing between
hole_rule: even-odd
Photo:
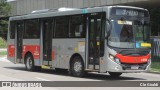
<instances>
[{"instance_id":1,"label":"bus wheel with grey hub just left of the front door","mask_svg":"<svg viewBox=\"0 0 160 90\"><path fill-rule=\"evenodd\" d=\"M71 73L76 77L83 77L84 75L84 64L81 57L75 56L71 63Z\"/></svg>"}]
</instances>

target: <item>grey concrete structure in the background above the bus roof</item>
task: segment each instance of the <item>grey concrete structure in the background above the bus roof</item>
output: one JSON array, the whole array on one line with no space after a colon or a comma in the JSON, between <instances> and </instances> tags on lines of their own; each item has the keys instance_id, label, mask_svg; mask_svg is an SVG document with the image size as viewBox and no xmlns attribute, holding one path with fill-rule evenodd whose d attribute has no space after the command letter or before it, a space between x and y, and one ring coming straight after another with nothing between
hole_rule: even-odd
<instances>
[{"instance_id":1,"label":"grey concrete structure in the background above the bus roof","mask_svg":"<svg viewBox=\"0 0 160 90\"><path fill-rule=\"evenodd\" d=\"M84 8L104 5L127 4L150 0L16 0L10 2L11 16L31 13L33 10L59 7Z\"/></svg>"}]
</instances>

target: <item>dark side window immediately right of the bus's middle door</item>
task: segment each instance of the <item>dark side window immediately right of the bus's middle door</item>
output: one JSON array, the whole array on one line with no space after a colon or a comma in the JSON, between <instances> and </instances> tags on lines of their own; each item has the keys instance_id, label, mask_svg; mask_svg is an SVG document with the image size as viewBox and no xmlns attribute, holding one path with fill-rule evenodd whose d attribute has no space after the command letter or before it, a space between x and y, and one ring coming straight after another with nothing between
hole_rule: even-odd
<instances>
[{"instance_id":1,"label":"dark side window immediately right of the bus's middle door","mask_svg":"<svg viewBox=\"0 0 160 90\"><path fill-rule=\"evenodd\" d=\"M69 19L68 17L57 17L56 18L56 38L67 38L69 37Z\"/></svg>"}]
</instances>

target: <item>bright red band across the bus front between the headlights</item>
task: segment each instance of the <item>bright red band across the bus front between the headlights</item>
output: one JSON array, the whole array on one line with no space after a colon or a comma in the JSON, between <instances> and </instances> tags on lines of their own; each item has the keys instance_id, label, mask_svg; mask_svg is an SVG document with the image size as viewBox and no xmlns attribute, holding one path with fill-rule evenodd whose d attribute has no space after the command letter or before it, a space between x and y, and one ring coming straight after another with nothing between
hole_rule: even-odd
<instances>
[{"instance_id":1,"label":"bright red band across the bus front between the headlights","mask_svg":"<svg viewBox=\"0 0 160 90\"><path fill-rule=\"evenodd\" d=\"M123 56L121 54L117 54L116 57L120 59L121 63L140 64L147 63L150 58L150 54L146 56Z\"/></svg>"}]
</instances>

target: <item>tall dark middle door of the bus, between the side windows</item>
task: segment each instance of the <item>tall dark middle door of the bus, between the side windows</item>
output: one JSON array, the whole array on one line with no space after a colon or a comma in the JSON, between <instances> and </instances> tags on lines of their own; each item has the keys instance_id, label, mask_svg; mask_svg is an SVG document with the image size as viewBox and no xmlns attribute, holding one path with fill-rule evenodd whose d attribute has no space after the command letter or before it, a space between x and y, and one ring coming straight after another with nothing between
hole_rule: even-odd
<instances>
[{"instance_id":1,"label":"tall dark middle door of the bus, between the side windows","mask_svg":"<svg viewBox=\"0 0 160 90\"><path fill-rule=\"evenodd\" d=\"M52 65L52 20L42 20L43 65Z\"/></svg>"}]
</instances>

